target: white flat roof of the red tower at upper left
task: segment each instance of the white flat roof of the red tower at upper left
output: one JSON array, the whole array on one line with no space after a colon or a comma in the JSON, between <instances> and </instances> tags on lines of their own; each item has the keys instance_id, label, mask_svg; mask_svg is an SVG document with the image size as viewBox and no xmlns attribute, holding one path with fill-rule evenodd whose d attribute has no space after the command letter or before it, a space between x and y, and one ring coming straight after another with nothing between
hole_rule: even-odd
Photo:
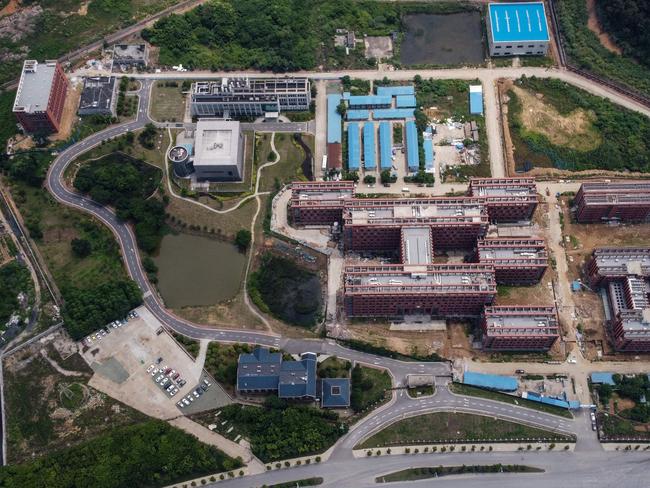
<instances>
[{"instance_id":1,"label":"white flat roof of the red tower at upper left","mask_svg":"<svg viewBox=\"0 0 650 488\"><path fill-rule=\"evenodd\" d=\"M35 60L26 60L20 75L14 112L45 112L50 100L52 82L56 72L56 61L39 63Z\"/></svg>"}]
</instances>

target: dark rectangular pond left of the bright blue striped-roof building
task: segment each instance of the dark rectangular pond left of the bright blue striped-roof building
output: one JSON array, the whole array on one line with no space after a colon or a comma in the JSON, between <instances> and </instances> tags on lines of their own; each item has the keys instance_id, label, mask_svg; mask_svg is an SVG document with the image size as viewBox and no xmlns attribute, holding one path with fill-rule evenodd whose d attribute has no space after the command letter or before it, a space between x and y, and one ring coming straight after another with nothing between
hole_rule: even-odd
<instances>
[{"instance_id":1,"label":"dark rectangular pond left of the bright blue striped-roof building","mask_svg":"<svg viewBox=\"0 0 650 488\"><path fill-rule=\"evenodd\" d=\"M480 64L485 58L478 11L405 15L402 64Z\"/></svg>"}]
</instances>

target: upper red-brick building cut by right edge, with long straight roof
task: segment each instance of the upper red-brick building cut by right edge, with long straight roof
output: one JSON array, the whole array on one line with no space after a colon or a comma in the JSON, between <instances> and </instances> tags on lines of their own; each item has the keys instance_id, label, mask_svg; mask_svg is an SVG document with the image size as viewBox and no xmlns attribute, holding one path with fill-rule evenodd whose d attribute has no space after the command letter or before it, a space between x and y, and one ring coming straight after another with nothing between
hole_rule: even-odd
<instances>
[{"instance_id":1,"label":"upper red-brick building cut by right edge, with long straight roof","mask_svg":"<svg viewBox=\"0 0 650 488\"><path fill-rule=\"evenodd\" d=\"M574 204L581 223L640 222L650 214L650 182L588 182L580 185Z\"/></svg>"}]
</instances>

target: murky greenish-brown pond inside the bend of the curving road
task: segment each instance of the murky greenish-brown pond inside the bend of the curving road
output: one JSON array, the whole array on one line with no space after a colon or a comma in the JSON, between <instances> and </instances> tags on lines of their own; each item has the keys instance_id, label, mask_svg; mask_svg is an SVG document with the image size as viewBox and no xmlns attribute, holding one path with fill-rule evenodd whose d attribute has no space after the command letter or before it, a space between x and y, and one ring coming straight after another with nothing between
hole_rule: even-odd
<instances>
[{"instance_id":1,"label":"murky greenish-brown pond inside the bend of the curving road","mask_svg":"<svg viewBox=\"0 0 650 488\"><path fill-rule=\"evenodd\" d=\"M246 255L228 242L168 234L154 261L165 304L178 308L214 305L233 298L244 277Z\"/></svg>"}]
</instances>

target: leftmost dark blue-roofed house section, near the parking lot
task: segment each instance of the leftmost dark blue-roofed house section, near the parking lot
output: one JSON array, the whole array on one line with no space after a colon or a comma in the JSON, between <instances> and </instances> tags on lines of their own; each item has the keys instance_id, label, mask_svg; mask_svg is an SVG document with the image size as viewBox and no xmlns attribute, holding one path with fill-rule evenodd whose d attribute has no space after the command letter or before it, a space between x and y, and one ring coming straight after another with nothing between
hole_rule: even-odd
<instances>
[{"instance_id":1,"label":"leftmost dark blue-roofed house section, near the parking lot","mask_svg":"<svg viewBox=\"0 0 650 488\"><path fill-rule=\"evenodd\" d=\"M278 390L282 354L257 347L252 353L242 353L237 361L237 391L266 393Z\"/></svg>"}]
</instances>

